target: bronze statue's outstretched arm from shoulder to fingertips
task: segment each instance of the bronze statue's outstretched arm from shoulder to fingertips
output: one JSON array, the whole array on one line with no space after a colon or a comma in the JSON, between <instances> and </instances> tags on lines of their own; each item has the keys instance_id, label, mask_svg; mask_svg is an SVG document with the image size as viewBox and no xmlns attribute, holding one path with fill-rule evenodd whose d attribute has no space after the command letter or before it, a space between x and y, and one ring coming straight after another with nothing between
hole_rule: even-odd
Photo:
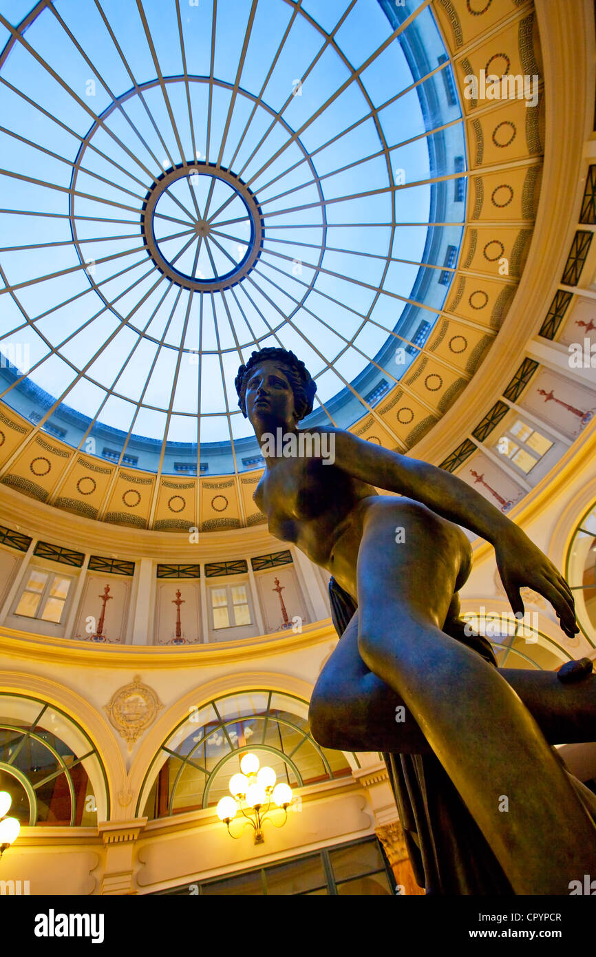
<instances>
[{"instance_id":1,"label":"bronze statue's outstretched arm from shoulder to fingertips","mask_svg":"<svg viewBox=\"0 0 596 957\"><path fill-rule=\"evenodd\" d=\"M495 546L497 568L513 611L523 614L519 589L538 591L553 606L565 634L579 632L573 595L563 575L518 525L466 482L427 462L390 452L349 432L333 431L335 462L354 479L427 505Z\"/></svg>"}]
</instances>

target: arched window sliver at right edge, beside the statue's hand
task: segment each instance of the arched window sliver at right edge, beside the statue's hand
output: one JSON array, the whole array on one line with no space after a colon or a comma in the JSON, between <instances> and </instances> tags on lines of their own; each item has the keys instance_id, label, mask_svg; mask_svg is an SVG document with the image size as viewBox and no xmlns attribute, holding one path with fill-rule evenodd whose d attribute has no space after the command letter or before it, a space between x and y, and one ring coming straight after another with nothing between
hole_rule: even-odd
<instances>
[{"instance_id":1,"label":"arched window sliver at right edge, beside the statue's hand","mask_svg":"<svg viewBox=\"0 0 596 957\"><path fill-rule=\"evenodd\" d=\"M575 529L565 566L573 591L578 624L589 643L596 639L596 505L592 505Z\"/></svg>"}]
</instances>

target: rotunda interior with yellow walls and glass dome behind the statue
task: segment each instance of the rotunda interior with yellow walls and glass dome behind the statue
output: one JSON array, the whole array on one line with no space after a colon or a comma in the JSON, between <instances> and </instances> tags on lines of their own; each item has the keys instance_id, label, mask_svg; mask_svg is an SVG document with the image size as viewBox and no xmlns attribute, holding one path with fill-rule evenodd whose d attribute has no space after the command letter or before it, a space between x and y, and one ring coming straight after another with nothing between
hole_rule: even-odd
<instances>
[{"instance_id":1,"label":"rotunda interior with yellow walls and glass dome behind the statue","mask_svg":"<svg viewBox=\"0 0 596 957\"><path fill-rule=\"evenodd\" d=\"M313 735L330 574L254 501L234 378L293 350L300 429L451 473L563 572L574 636L464 528L499 668L596 659L594 5L4 0L0 33L2 887L422 895L383 754ZM292 793L260 830L218 815L249 753Z\"/></svg>"}]
</instances>

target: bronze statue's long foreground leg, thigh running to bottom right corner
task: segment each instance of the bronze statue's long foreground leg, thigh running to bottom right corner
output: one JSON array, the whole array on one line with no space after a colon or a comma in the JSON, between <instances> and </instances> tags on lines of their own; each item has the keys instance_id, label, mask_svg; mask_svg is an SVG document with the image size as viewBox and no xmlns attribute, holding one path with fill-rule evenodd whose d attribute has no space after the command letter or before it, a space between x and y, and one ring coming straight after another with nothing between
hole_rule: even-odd
<instances>
[{"instance_id":1,"label":"bronze statue's long foreground leg, thigh running to bottom right corner","mask_svg":"<svg viewBox=\"0 0 596 957\"><path fill-rule=\"evenodd\" d=\"M595 872L596 828L516 693L441 631L468 561L461 530L424 505L373 501L358 556L359 651L408 705L515 892L568 894Z\"/></svg>"}]
</instances>

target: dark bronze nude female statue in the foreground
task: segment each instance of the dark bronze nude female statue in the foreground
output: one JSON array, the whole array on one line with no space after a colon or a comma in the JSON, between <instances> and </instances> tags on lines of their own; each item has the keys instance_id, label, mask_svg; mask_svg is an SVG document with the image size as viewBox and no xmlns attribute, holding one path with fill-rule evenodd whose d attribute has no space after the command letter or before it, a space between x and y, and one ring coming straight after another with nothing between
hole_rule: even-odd
<instances>
[{"instance_id":1,"label":"dark bronze nude female statue in the foreground","mask_svg":"<svg viewBox=\"0 0 596 957\"><path fill-rule=\"evenodd\" d=\"M278 428L298 436L316 384L294 353L254 352L235 384L263 450ZM315 739L401 755L430 750L502 869L501 893L568 894L570 880L596 873L596 827L537 719L560 743L574 740L578 712L594 727L594 678L571 691L554 673L499 673L448 634L472 562L455 523L495 546L514 612L523 612L519 589L527 586L574 635L563 576L516 524L450 473L340 429L313 432L333 435L334 463L268 455L254 501L272 534L331 572L358 607L313 693ZM404 723L395 720L400 704L408 709Z\"/></svg>"}]
</instances>

